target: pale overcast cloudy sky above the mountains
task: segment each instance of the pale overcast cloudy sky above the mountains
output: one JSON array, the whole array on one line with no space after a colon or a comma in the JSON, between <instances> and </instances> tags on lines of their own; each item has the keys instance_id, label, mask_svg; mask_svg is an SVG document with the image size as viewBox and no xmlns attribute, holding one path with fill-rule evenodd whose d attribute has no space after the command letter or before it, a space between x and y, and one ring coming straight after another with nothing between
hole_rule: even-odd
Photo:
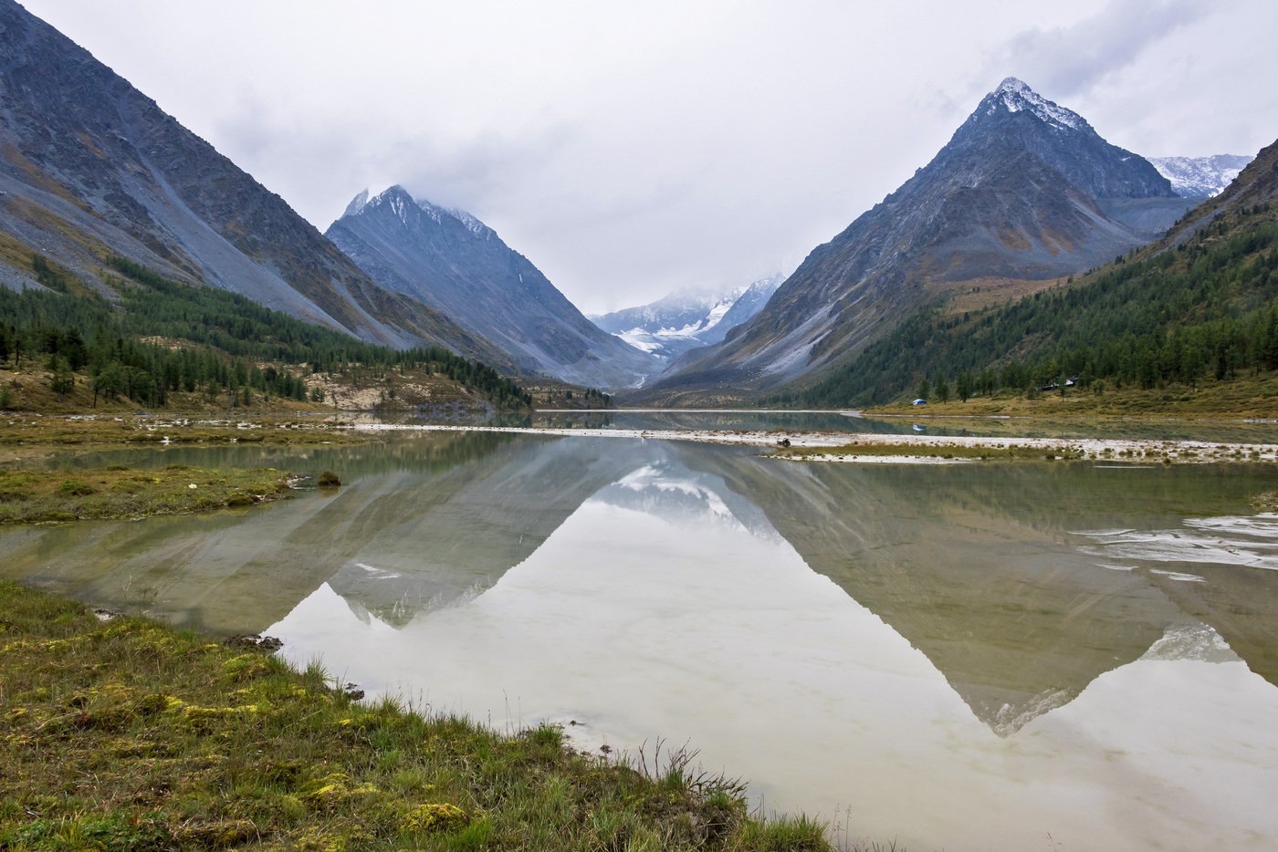
<instances>
[{"instance_id":1,"label":"pale overcast cloudy sky above the mountains","mask_svg":"<svg viewBox=\"0 0 1278 852\"><path fill-rule=\"evenodd\" d=\"M320 230L404 184L587 313L790 272L1008 75L1149 157L1278 138L1275 0L23 0Z\"/></svg>"}]
</instances>

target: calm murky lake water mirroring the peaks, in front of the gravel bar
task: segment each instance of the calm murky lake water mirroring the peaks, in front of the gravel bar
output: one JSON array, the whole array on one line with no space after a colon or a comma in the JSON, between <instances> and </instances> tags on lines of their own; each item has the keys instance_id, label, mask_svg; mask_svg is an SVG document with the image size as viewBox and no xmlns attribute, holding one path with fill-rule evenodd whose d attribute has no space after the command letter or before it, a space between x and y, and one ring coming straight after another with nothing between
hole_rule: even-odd
<instances>
[{"instance_id":1,"label":"calm murky lake water mirroring the peaks, in front of the gravel bar","mask_svg":"<svg viewBox=\"0 0 1278 852\"><path fill-rule=\"evenodd\" d=\"M83 464L332 469L240 512L0 533L0 574L930 849L1278 848L1260 465L799 464L492 433ZM575 723L575 724L574 724Z\"/></svg>"}]
</instances>

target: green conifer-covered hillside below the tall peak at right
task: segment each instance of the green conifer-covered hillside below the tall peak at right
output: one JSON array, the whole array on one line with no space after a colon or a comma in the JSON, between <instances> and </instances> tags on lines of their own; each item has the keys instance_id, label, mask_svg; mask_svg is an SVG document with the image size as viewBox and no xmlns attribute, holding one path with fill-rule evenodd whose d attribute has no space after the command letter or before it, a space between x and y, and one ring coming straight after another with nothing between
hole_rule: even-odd
<instances>
[{"instance_id":1,"label":"green conifer-covered hillside below the tall peak at right","mask_svg":"<svg viewBox=\"0 0 1278 852\"><path fill-rule=\"evenodd\" d=\"M1067 382L1192 387L1204 376L1278 370L1275 160L1275 147L1261 152L1250 179L1145 249L1016 303L919 310L833 376L773 401L842 406L920 391L944 399L951 388L965 399Z\"/></svg>"}]
</instances>

